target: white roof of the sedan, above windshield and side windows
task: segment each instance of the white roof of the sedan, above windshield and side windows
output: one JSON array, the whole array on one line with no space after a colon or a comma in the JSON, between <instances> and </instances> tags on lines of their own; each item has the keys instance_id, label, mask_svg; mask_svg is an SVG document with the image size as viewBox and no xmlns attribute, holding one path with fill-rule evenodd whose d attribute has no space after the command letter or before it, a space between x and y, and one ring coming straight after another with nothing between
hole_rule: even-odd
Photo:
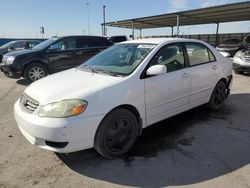
<instances>
[{"instance_id":1,"label":"white roof of the sedan, above windshield and side windows","mask_svg":"<svg viewBox=\"0 0 250 188\"><path fill-rule=\"evenodd\" d=\"M186 38L146 38L146 39L137 39L126 41L122 43L147 43L147 44L161 44L166 42L199 42L203 43L200 40L195 39L186 39Z\"/></svg>"}]
</instances>

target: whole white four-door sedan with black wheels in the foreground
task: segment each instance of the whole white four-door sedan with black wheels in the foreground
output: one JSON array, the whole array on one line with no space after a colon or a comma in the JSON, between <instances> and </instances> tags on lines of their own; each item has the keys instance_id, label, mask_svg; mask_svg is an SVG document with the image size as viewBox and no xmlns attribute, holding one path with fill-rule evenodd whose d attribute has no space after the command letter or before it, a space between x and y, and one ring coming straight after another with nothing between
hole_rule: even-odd
<instances>
[{"instance_id":1,"label":"whole white four-door sedan with black wheels in the foreground","mask_svg":"<svg viewBox=\"0 0 250 188\"><path fill-rule=\"evenodd\" d=\"M31 84L15 103L15 119L41 148L94 147L114 158L133 146L142 128L206 103L219 109L231 80L231 61L205 42L128 41Z\"/></svg>"}]
</instances>

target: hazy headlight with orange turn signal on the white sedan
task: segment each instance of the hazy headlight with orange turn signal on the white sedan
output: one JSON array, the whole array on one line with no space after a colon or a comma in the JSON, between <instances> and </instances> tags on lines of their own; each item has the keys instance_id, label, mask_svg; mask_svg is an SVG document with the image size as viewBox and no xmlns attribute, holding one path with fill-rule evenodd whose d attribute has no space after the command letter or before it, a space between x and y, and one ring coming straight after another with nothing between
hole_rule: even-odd
<instances>
[{"instance_id":1,"label":"hazy headlight with orange turn signal on the white sedan","mask_svg":"<svg viewBox=\"0 0 250 188\"><path fill-rule=\"evenodd\" d=\"M87 108L87 101L80 99L66 99L51 103L38 112L40 117L65 118L77 116Z\"/></svg>"}]
</instances>

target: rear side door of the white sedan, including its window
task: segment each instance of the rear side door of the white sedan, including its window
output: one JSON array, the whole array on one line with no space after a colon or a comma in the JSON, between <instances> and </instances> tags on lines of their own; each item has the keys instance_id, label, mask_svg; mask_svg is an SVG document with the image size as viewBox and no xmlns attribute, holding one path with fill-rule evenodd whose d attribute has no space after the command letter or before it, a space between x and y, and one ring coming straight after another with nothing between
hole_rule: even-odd
<instances>
[{"instance_id":1,"label":"rear side door of the white sedan, including its window","mask_svg":"<svg viewBox=\"0 0 250 188\"><path fill-rule=\"evenodd\" d=\"M201 43L185 43L191 73L190 107L207 103L219 78L215 56Z\"/></svg>"}]
</instances>

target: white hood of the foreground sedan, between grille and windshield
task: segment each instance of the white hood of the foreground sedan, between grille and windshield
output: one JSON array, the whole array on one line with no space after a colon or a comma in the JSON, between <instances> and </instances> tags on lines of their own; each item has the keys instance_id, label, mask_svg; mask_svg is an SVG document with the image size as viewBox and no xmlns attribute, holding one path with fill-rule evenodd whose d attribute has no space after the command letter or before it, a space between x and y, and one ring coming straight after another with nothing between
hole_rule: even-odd
<instances>
[{"instance_id":1,"label":"white hood of the foreground sedan, between grille and windshield","mask_svg":"<svg viewBox=\"0 0 250 188\"><path fill-rule=\"evenodd\" d=\"M84 99L122 79L123 77L73 68L38 80L27 87L24 92L38 101L40 105L46 105L63 99Z\"/></svg>"}]
</instances>

